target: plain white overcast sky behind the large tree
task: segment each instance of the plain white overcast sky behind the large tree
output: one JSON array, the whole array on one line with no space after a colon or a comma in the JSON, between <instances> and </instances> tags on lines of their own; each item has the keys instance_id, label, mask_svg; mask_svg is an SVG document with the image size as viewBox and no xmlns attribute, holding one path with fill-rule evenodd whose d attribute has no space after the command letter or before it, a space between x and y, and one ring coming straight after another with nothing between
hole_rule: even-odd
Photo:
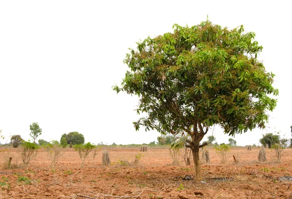
<instances>
[{"instance_id":1,"label":"plain white overcast sky behind the large tree","mask_svg":"<svg viewBox=\"0 0 292 199\"><path fill-rule=\"evenodd\" d=\"M0 1L0 129L6 137L59 140L78 131L93 143L149 143L157 132L136 132L137 98L111 90L120 85L128 48L172 25L209 20L256 32L264 47L259 59L276 74L278 104L266 130L235 136L258 144L261 134L281 131L291 138L291 19L289 1L195 0L2 0ZM219 128L218 143L228 141ZM208 135L211 135L210 131ZM205 139L203 139L205 140ZM3 141L2 141L3 142Z\"/></svg>"}]
</instances>

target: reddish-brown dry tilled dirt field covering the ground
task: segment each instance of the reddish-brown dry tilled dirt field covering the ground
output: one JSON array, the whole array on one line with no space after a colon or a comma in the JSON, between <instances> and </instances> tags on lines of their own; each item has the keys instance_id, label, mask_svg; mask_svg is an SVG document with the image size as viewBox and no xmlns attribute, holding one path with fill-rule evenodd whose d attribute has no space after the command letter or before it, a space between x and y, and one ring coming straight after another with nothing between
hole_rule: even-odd
<instances>
[{"instance_id":1,"label":"reddish-brown dry tilled dirt field covering the ground","mask_svg":"<svg viewBox=\"0 0 292 199\"><path fill-rule=\"evenodd\" d=\"M3 149L3 148L2 148ZM172 166L168 149L113 148L111 166L102 166L102 152L92 156L80 168L81 160L73 149L67 149L55 171L45 151L40 151L26 169L0 170L0 199L292 199L292 150L285 149L281 163L274 151L266 150L268 162L257 161L258 148L231 149L226 164L220 164L215 150L209 149L211 164L202 165L203 181L184 180L193 177L193 163ZM3 150L2 150L3 151ZM138 166L121 166L120 160L133 161L141 153ZM4 158L20 156L15 149L1 153ZM234 163L232 155L239 159Z\"/></svg>"}]
</instances>

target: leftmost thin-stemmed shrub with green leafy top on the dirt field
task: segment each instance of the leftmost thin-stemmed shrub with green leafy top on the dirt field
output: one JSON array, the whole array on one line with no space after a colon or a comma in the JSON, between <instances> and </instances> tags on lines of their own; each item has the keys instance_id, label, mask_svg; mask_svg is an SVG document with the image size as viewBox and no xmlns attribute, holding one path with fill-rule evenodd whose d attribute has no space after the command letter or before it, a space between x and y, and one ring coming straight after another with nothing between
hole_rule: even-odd
<instances>
[{"instance_id":1,"label":"leftmost thin-stemmed shrub with green leafy top on the dirt field","mask_svg":"<svg viewBox=\"0 0 292 199\"><path fill-rule=\"evenodd\" d=\"M21 159L23 164L28 167L28 164L37 156L37 149L39 147L32 142L23 141L22 150L20 151Z\"/></svg>"}]
</instances>

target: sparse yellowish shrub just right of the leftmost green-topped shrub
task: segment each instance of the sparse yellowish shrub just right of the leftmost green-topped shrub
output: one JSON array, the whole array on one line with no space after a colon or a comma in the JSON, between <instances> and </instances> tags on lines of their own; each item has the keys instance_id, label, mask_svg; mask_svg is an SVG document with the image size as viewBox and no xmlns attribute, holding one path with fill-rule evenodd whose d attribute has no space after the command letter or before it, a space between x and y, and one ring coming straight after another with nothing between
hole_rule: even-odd
<instances>
[{"instance_id":1,"label":"sparse yellowish shrub just right of the leftmost green-topped shrub","mask_svg":"<svg viewBox=\"0 0 292 199\"><path fill-rule=\"evenodd\" d=\"M61 159L61 157L64 155L65 149L62 145L59 144L58 141L53 141L52 144L47 144L45 149L48 153L48 158L50 159L53 168L55 168L58 160Z\"/></svg>"}]
</instances>

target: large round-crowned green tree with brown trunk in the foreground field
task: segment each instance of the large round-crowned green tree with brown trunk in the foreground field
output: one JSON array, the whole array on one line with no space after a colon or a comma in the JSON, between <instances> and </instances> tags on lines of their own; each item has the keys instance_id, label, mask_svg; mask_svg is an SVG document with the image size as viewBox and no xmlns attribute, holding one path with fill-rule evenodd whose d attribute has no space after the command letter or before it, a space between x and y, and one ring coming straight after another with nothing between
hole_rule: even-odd
<instances>
[{"instance_id":1,"label":"large round-crowned green tree with brown trunk in the foreground field","mask_svg":"<svg viewBox=\"0 0 292 199\"><path fill-rule=\"evenodd\" d=\"M222 28L209 20L192 27L174 24L173 33L147 38L130 49L121 87L137 95L137 113L146 117L134 122L136 130L156 129L162 134L187 133L187 147L201 180L199 148L210 126L219 125L230 136L256 127L264 128L267 110L272 111L277 95L273 73L257 60L262 46L255 33L243 26Z\"/></svg>"}]
</instances>

